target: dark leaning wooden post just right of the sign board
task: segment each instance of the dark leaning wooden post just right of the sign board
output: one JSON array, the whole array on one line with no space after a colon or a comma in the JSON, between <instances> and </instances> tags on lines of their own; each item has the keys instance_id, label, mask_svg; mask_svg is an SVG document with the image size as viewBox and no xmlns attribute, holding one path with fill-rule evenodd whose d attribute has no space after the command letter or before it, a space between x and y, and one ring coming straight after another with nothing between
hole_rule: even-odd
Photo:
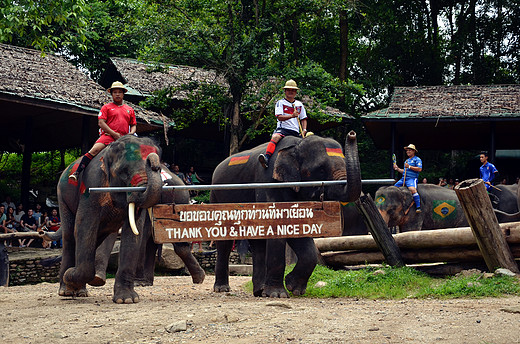
<instances>
[{"instance_id":1,"label":"dark leaning wooden post just right of the sign board","mask_svg":"<svg viewBox=\"0 0 520 344\"><path fill-rule=\"evenodd\" d=\"M377 210L376 204L370 195L363 195L356 201L356 207L365 218L365 223L370 229L370 233L379 247L379 250L385 256L388 265L404 266L401 251L395 243L390 230L388 229L385 220ZM348 219L344 219L348 221Z\"/></svg>"}]
</instances>

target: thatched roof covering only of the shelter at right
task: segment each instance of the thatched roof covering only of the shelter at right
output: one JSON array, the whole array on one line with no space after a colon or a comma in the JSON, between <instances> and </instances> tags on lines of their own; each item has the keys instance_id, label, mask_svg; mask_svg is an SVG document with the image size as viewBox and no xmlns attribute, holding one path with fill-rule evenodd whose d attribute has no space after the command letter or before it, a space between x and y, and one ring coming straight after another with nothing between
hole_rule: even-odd
<instances>
[{"instance_id":1,"label":"thatched roof covering only of the shelter at right","mask_svg":"<svg viewBox=\"0 0 520 344\"><path fill-rule=\"evenodd\" d=\"M370 119L520 117L520 85L396 87L387 108Z\"/></svg>"}]
</instances>

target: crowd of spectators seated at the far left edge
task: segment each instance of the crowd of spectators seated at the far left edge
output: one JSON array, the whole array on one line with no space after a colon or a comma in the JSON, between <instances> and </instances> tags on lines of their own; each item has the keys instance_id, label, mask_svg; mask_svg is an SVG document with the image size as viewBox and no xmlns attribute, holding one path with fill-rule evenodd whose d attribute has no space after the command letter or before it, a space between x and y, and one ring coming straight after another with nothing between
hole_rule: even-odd
<instances>
[{"instance_id":1,"label":"crowd of spectators seated at the far left edge","mask_svg":"<svg viewBox=\"0 0 520 344\"><path fill-rule=\"evenodd\" d=\"M40 203L35 203L25 209L22 203L15 205L10 196L6 196L0 203L0 233L55 232L60 228L60 224L57 208L42 207ZM61 240L49 243L39 238L7 239L4 240L4 245L8 247L60 248Z\"/></svg>"}]
</instances>

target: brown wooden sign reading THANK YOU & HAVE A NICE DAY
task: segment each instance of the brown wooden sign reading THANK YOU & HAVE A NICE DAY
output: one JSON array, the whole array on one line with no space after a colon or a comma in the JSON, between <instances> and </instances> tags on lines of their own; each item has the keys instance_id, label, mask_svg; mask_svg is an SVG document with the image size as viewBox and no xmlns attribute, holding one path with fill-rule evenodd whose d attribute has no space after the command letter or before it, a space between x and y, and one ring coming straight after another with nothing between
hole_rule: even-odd
<instances>
[{"instance_id":1,"label":"brown wooden sign reading THANK YOU & HAVE A NICE DAY","mask_svg":"<svg viewBox=\"0 0 520 344\"><path fill-rule=\"evenodd\" d=\"M153 207L156 243L341 236L339 202L220 203Z\"/></svg>"}]
</instances>

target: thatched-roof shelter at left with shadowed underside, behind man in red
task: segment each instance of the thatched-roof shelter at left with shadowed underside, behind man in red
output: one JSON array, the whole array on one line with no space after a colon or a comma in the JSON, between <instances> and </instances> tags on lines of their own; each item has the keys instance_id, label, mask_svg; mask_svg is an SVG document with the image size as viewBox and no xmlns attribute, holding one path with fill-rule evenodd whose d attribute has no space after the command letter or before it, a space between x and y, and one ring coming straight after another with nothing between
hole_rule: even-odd
<instances>
[{"instance_id":1,"label":"thatched-roof shelter at left with shadowed underside, behind man in red","mask_svg":"<svg viewBox=\"0 0 520 344\"><path fill-rule=\"evenodd\" d=\"M85 136L83 124L89 122L82 117L92 117L86 132L95 138L99 109L110 101L102 86L63 57L0 44L0 149L10 149L7 140L23 142L28 118L32 121L33 141L42 150L78 146ZM130 105L136 110L138 132L163 126L158 114ZM55 142L48 136L40 137L48 126L68 135Z\"/></svg>"}]
</instances>

